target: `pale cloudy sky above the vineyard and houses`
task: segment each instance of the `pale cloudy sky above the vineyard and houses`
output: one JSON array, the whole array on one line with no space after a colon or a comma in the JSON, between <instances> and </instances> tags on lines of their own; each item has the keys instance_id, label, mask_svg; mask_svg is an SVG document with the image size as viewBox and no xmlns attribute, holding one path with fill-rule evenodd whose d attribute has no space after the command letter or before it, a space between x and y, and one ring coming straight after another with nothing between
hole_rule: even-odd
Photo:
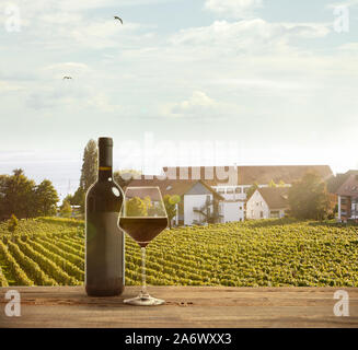
<instances>
[{"instance_id":1,"label":"pale cloudy sky above the vineyard and houses","mask_svg":"<svg viewBox=\"0 0 358 350\"><path fill-rule=\"evenodd\" d=\"M61 196L103 136L147 174L358 168L358 0L1 1L0 50L0 174Z\"/></svg>"}]
</instances>

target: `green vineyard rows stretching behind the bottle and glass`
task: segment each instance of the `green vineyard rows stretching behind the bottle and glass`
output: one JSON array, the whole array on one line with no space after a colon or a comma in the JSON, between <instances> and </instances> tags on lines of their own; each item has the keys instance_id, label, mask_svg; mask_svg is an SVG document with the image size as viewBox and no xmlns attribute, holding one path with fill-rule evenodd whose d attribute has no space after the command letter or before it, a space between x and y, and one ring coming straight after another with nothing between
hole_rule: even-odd
<instances>
[{"instance_id":1,"label":"green vineyard rows stretching behind the bottle and glass","mask_svg":"<svg viewBox=\"0 0 358 350\"><path fill-rule=\"evenodd\" d=\"M165 230L147 279L162 285L358 287L358 228L282 220ZM84 224L56 218L0 223L0 285L78 285ZM140 284L140 248L126 236L126 284Z\"/></svg>"}]
</instances>

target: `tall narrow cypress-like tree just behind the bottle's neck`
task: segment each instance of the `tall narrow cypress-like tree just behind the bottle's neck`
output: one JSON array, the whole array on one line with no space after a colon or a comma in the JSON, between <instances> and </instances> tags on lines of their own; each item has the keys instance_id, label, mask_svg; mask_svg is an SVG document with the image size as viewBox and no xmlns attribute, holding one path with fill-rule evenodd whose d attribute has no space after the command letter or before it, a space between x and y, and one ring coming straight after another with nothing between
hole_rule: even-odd
<instances>
[{"instance_id":1,"label":"tall narrow cypress-like tree just behind the bottle's neck","mask_svg":"<svg viewBox=\"0 0 358 350\"><path fill-rule=\"evenodd\" d=\"M81 170L80 187L84 192L97 179L97 143L94 140L90 140L84 148L83 164Z\"/></svg>"}]
</instances>

